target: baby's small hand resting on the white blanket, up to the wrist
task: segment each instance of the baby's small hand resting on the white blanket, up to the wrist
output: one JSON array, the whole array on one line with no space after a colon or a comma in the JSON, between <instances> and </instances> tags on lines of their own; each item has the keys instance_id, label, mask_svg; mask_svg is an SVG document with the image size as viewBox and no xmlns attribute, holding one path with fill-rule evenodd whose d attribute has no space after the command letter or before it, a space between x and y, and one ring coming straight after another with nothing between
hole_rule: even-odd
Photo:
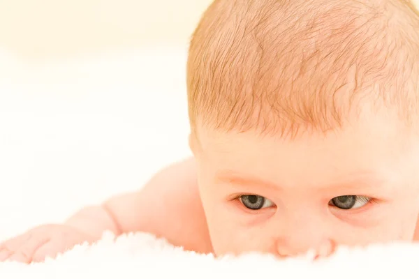
<instances>
[{"instance_id":1,"label":"baby's small hand resting on the white blanket, up to the wrist","mask_svg":"<svg viewBox=\"0 0 419 279\"><path fill-rule=\"evenodd\" d=\"M0 262L43 262L45 257L73 248L95 239L67 225L41 225L12 239L0 243Z\"/></svg>"}]
</instances>

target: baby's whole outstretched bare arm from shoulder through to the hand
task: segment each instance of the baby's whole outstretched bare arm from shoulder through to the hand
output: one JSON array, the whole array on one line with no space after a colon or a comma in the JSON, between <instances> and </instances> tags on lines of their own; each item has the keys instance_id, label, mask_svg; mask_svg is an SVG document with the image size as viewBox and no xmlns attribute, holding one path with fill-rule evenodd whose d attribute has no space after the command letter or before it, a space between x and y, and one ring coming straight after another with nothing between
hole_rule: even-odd
<instances>
[{"instance_id":1,"label":"baby's whole outstretched bare arm from shoulder through to the hand","mask_svg":"<svg viewBox=\"0 0 419 279\"><path fill-rule=\"evenodd\" d=\"M85 241L93 243L105 230L116 235L149 232L175 246L212 252L191 158L166 167L138 192L88 206L64 224L41 225L0 243L0 262L42 262Z\"/></svg>"}]
</instances>

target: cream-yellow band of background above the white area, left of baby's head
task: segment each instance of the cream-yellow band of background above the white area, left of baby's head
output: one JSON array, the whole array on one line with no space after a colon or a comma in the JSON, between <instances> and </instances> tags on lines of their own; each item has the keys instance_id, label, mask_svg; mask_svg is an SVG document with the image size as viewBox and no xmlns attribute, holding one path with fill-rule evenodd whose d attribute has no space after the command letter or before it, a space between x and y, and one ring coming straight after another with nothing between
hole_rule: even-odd
<instances>
[{"instance_id":1,"label":"cream-yellow band of background above the white area, left of baby's head","mask_svg":"<svg viewBox=\"0 0 419 279\"><path fill-rule=\"evenodd\" d=\"M210 0L1 0L0 45L24 59L185 45Z\"/></svg>"}]
</instances>

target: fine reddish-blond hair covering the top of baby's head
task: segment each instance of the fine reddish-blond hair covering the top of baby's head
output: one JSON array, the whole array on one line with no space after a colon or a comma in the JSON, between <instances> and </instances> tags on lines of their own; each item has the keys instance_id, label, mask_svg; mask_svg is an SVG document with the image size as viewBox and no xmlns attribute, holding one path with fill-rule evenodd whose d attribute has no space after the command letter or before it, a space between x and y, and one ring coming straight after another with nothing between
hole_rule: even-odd
<instances>
[{"instance_id":1,"label":"fine reddish-blond hair covering the top of baby's head","mask_svg":"<svg viewBox=\"0 0 419 279\"><path fill-rule=\"evenodd\" d=\"M366 99L414 122L418 32L401 0L216 0L189 49L191 129L324 131Z\"/></svg>"}]
</instances>

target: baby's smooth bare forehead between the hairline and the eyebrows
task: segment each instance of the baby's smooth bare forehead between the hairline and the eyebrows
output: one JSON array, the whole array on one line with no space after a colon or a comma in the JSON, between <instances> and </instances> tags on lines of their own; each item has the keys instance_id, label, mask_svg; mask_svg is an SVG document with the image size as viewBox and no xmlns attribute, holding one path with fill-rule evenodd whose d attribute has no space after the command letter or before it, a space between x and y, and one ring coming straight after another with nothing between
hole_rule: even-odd
<instances>
[{"instance_id":1,"label":"baby's smooth bare forehead between the hairline and the eyebrows","mask_svg":"<svg viewBox=\"0 0 419 279\"><path fill-rule=\"evenodd\" d=\"M413 166L419 164L419 144L399 127L385 114L383 119L371 115L327 133L300 133L293 138L202 126L198 130L202 156L198 157L212 176L230 172L287 185L299 180L301 185L339 184L364 174L378 179L410 177Z\"/></svg>"}]
</instances>

